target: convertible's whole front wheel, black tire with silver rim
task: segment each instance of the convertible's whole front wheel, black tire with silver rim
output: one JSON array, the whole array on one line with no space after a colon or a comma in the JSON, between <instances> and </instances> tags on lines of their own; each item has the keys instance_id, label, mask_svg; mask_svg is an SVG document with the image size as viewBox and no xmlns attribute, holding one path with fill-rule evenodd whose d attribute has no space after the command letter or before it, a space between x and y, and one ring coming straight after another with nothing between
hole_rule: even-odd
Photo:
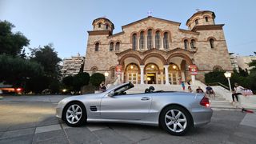
<instances>
[{"instance_id":1,"label":"convertible's whole front wheel, black tire with silver rim","mask_svg":"<svg viewBox=\"0 0 256 144\"><path fill-rule=\"evenodd\" d=\"M72 106L74 106L73 110ZM81 102L70 102L65 106L62 112L62 119L68 126L82 126L82 124L85 123L87 119L86 107Z\"/></svg>"}]
</instances>

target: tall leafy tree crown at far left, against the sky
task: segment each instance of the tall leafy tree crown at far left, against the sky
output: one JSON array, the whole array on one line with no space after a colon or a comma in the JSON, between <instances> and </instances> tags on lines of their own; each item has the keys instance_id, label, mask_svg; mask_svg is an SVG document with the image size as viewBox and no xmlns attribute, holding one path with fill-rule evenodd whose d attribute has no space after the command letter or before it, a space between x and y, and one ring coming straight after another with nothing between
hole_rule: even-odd
<instances>
[{"instance_id":1,"label":"tall leafy tree crown at far left, against the sky","mask_svg":"<svg viewBox=\"0 0 256 144\"><path fill-rule=\"evenodd\" d=\"M13 33L11 31L14 27L10 22L0 21L0 54L18 56L23 47L30 44L30 40L21 32Z\"/></svg>"}]
</instances>

